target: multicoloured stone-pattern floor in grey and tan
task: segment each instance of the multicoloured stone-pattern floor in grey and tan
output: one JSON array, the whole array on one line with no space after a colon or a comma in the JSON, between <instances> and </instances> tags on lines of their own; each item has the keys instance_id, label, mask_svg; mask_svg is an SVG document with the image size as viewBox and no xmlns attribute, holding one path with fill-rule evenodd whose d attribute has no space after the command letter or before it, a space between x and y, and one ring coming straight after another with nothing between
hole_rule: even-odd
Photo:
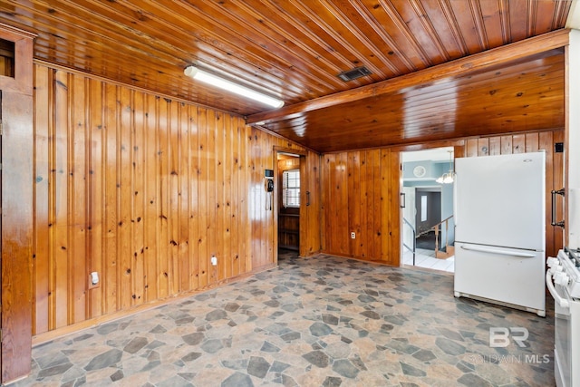
<instances>
[{"instance_id":1,"label":"multicoloured stone-pattern floor in grey and tan","mask_svg":"<svg viewBox=\"0 0 580 387\"><path fill-rule=\"evenodd\" d=\"M553 312L456 299L449 275L285 255L37 346L33 374L13 385L551 386L553 323ZM490 347L490 327L527 328L527 346Z\"/></svg>"}]
</instances>

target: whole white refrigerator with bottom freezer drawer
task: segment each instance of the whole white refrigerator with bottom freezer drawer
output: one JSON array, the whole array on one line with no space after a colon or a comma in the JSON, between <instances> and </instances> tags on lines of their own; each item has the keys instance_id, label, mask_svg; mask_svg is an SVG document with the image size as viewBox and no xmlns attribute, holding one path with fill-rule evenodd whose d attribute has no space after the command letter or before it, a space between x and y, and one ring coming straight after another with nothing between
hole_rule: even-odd
<instances>
[{"instance_id":1,"label":"whole white refrigerator with bottom freezer drawer","mask_svg":"<svg viewBox=\"0 0 580 387\"><path fill-rule=\"evenodd\" d=\"M454 294L546 315L546 154L455 160Z\"/></svg>"}]
</instances>

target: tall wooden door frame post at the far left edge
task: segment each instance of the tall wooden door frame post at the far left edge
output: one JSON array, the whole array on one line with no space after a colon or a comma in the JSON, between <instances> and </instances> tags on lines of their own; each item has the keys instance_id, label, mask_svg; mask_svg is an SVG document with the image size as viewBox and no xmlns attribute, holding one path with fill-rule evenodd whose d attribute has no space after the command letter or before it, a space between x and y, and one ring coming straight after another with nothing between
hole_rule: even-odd
<instances>
[{"instance_id":1,"label":"tall wooden door frame post at the far left edge","mask_svg":"<svg viewBox=\"0 0 580 387\"><path fill-rule=\"evenodd\" d=\"M2 227L0 383L31 372L33 334L33 157L35 34L0 24L14 43L14 74L0 75L2 92ZM16 151L17 150L17 151Z\"/></svg>"}]
</instances>

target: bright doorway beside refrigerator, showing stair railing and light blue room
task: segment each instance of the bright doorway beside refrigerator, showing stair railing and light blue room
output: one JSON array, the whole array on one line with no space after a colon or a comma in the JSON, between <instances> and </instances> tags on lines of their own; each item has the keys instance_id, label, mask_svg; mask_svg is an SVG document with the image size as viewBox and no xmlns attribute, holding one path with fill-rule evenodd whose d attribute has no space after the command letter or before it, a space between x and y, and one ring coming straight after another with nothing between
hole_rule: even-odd
<instances>
[{"instance_id":1,"label":"bright doorway beside refrigerator, showing stair railing and light blue room","mask_svg":"<svg viewBox=\"0 0 580 387\"><path fill-rule=\"evenodd\" d=\"M453 147L403 151L401 264L453 273Z\"/></svg>"}]
</instances>

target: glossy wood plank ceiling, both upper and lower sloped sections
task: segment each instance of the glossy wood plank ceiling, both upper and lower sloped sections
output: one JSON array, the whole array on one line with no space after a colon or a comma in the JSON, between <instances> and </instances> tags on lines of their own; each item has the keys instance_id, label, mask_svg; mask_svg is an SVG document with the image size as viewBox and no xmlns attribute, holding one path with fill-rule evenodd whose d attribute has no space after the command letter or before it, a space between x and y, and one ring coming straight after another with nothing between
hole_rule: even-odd
<instances>
[{"instance_id":1,"label":"glossy wood plank ceiling, both upper and lower sloped sections","mask_svg":"<svg viewBox=\"0 0 580 387\"><path fill-rule=\"evenodd\" d=\"M571 4L3 0L0 22L38 34L37 60L234 112L330 152L564 127L564 54L541 37L564 28ZM532 49L505 59L535 36ZM498 52L498 63L469 62L483 52ZM189 64L285 107L267 111L193 81ZM337 77L360 66L372 74Z\"/></svg>"}]
</instances>

